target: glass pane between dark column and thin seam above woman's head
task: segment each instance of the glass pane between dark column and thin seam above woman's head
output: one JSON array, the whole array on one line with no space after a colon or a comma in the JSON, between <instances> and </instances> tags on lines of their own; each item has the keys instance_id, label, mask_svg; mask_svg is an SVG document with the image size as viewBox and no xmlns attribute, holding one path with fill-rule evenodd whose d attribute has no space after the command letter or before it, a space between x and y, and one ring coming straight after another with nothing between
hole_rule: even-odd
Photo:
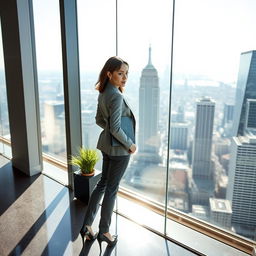
<instances>
[{"instance_id":1,"label":"glass pane between dark column and thin seam above woman's head","mask_svg":"<svg viewBox=\"0 0 256 256\"><path fill-rule=\"evenodd\" d=\"M94 86L103 65L116 52L115 1L78 0L77 9L83 146L96 148L101 128L95 123L98 91ZM96 168L101 170L101 161Z\"/></svg>"}]
</instances>

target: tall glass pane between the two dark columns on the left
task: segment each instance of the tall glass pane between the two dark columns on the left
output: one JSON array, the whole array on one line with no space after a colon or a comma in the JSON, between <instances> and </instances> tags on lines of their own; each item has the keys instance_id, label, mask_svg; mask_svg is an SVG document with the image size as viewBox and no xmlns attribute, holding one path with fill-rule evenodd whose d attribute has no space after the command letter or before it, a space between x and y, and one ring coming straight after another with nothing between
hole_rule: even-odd
<instances>
[{"instance_id":1,"label":"tall glass pane between the two dark columns on the left","mask_svg":"<svg viewBox=\"0 0 256 256\"><path fill-rule=\"evenodd\" d=\"M59 1L33 5L43 153L66 162Z\"/></svg>"}]
</instances>

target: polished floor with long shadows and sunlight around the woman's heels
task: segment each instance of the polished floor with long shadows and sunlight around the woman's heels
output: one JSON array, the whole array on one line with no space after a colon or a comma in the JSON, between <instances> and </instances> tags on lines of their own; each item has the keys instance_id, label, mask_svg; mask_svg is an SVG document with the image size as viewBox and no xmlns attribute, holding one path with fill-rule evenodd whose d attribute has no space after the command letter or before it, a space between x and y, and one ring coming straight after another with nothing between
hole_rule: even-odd
<instances>
[{"instance_id":1,"label":"polished floor with long shadows and sunlight around the woman's heels","mask_svg":"<svg viewBox=\"0 0 256 256\"><path fill-rule=\"evenodd\" d=\"M82 248L86 206L47 176L27 177L0 157L0 202L0 255L99 255L97 240ZM104 243L105 256L195 255L117 214L110 231L119 239L114 248Z\"/></svg>"}]
</instances>

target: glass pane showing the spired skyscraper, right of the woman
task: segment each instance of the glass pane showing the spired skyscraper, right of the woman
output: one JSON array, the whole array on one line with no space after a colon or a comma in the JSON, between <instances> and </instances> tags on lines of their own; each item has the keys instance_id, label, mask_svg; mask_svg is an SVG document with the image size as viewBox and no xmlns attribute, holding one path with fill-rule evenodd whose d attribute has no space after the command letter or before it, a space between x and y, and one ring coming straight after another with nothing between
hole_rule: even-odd
<instances>
[{"instance_id":1,"label":"glass pane showing the spired skyscraper, right of the woman","mask_svg":"<svg viewBox=\"0 0 256 256\"><path fill-rule=\"evenodd\" d=\"M118 6L119 56L130 65L124 93L136 116L138 147L121 186L164 206L172 2L120 0ZM130 209L126 206L120 203L118 210L140 223L164 231L162 216L156 214L153 217L149 215L152 213L138 206L132 208L129 205ZM134 209L140 209L140 213ZM139 220L139 216L143 218Z\"/></svg>"}]
</instances>

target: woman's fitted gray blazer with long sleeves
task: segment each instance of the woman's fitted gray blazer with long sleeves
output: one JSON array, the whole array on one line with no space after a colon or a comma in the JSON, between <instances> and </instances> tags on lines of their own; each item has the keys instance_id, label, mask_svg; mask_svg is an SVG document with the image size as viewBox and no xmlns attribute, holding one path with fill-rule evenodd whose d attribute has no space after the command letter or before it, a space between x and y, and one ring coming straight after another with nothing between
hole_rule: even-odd
<instances>
[{"instance_id":1,"label":"woman's fitted gray blazer with long sleeves","mask_svg":"<svg viewBox=\"0 0 256 256\"><path fill-rule=\"evenodd\" d=\"M121 116L132 118L135 134L136 121L131 109L118 88L108 83L105 90L99 94L95 119L97 125L103 128L97 148L111 156L129 155L129 148L133 144L132 140L121 129ZM113 147L111 134L122 145Z\"/></svg>"}]
</instances>

